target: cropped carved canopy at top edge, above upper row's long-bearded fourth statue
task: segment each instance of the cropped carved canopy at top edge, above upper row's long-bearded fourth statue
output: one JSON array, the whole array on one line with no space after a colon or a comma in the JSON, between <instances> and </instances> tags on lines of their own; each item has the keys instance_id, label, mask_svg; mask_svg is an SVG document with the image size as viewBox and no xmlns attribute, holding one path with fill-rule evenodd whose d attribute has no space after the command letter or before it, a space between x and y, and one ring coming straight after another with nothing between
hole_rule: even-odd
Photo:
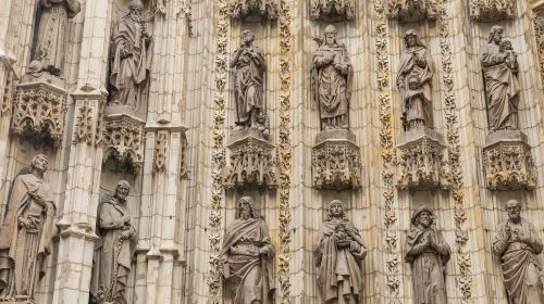
<instances>
[{"instance_id":1,"label":"cropped carved canopy at top edge, above upper row's long-bearded fourth statue","mask_svg":"<svg viewBox=\"0 0 544 304\"><path fill-rule=\"evenodd\" d=\"M348 21L355 17L354 0L310 0L310 18Z\"/></svg>"}]
</instances>

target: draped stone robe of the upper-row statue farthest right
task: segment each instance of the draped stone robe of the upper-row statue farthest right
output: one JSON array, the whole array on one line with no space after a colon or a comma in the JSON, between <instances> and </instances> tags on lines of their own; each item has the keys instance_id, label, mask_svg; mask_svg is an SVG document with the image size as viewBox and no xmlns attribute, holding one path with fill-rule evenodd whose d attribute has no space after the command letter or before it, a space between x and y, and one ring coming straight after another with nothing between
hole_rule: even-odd
<instances>
[{"instance_id":1,"label":"draped stone robe of the upper-row statue farthest right","mask_svg":"<svg viewBox=\"0 0 544 304\"><path fill-rule=\"evenodd\" d=\"M483 46L480 60L482 62L490 128L518 128L518 93L519 81L514 72L502 60L498 46Z\"/></svg>"}]
</instances>

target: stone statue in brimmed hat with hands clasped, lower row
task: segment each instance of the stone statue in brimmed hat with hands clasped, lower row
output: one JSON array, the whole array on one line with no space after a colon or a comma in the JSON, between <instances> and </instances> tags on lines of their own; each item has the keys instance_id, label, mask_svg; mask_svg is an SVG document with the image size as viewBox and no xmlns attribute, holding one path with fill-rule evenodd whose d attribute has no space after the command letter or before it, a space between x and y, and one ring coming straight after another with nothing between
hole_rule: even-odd
<instances>
[{"instance_id":1,"label":"stone statue in brimmed hat with hands clasped, lower row","mask_svg":"<svg viewBox=\"0 0 544 304\"><path fill-rule=\"evenodd\" d=\"M411 264L413 303L446 304L444 267L452 254L442 233L433 228L433 213L419 208L406 237L406 262Z\"/></svg>"}]
</instances>

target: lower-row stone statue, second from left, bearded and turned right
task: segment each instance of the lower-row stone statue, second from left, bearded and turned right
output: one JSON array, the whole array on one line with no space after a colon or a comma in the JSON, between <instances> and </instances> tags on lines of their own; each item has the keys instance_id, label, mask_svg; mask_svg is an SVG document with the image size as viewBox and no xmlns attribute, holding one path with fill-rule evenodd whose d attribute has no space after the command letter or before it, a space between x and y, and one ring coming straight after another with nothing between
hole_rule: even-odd
<instances>
[{"instance_id":1,"label":"lower-row stone statue, second from left, bearded and turned right","mask_svg":"<svg viewBox=\"0 0 544 304\"><path fill-rule=\"evenodd\" d=\"M98 205L96 231L100 240L95 246L91 303L126 303L126 283L137 239L126 206L129 191L128 181L121 180L115 193Z\"/></svg>"}]
</instances>

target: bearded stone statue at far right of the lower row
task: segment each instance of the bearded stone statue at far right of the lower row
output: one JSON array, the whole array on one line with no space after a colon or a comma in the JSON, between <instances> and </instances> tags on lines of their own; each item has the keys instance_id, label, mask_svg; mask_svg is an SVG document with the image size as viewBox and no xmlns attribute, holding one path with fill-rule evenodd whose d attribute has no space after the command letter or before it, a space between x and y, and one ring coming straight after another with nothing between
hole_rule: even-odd
<instances>
[{"instance_id":1,"label":"bearded stone statue at far right of the lower row","mask_svg":"<svg viewBox=\"0 0 544 304\"><path fill-rule=\"evenodd\" d=\"M493 252L500 257L503 278L512 304L544 303L539 259L542 240L529 220L522 218L521 203L506 203L508 219L498 227Z\"/></svg>"}]
</instances>

